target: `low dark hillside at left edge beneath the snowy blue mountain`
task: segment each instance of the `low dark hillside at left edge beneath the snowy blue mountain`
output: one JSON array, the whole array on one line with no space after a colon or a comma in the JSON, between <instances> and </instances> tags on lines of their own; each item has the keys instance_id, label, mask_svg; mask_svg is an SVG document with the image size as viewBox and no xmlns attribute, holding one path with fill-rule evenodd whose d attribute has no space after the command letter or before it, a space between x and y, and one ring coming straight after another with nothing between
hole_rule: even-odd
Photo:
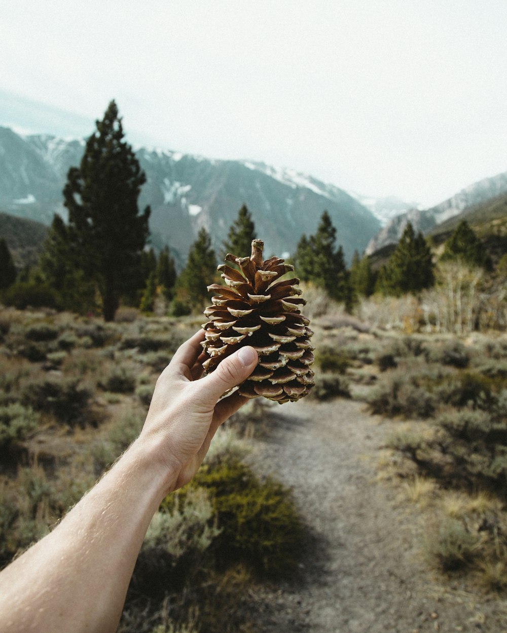
<instances>
[{"instance_id":1,"label":"low dark hillside at left edge beneath the snowy blue mountain","mask_svg":"<svg viewBox=\"0 0 507 633\"><path fill-rule=\"evenodd\" d=\"M7 242L17 268L34 265L48 234L48 227L34 220L0 213L0 237Z\"/></svg>"}]
</instances>

